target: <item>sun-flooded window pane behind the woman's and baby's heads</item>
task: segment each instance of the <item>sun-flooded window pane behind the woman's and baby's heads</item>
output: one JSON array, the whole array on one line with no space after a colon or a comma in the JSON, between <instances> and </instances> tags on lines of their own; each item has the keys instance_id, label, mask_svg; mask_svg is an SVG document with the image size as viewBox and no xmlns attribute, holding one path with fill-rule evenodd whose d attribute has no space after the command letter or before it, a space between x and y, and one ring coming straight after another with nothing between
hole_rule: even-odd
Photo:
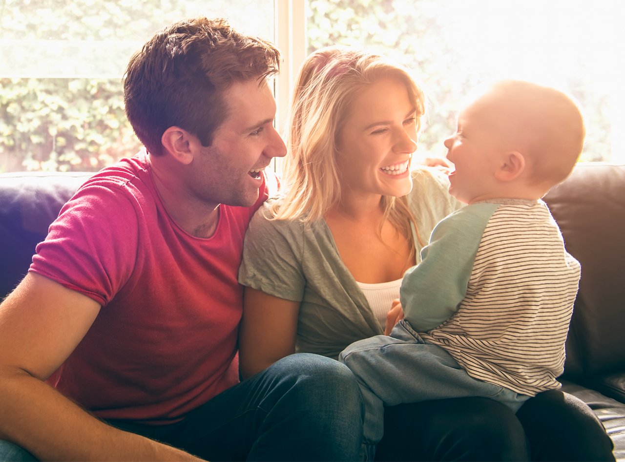
<instances>
[{"instance_id":1,"label":"sun-flooded window pane behind the woman's and baby's heads","mask_svg":"<svg viewBox=\"0 0 625 462\"><path fill-rule=\"evenodd\" d=\"M309 0L308 51L364 46L407 64L429 98L417 154L444 156L462 96L494 78L563 88L586 116L582 161L625 162L625 5L605 0Z\"/></svg>"}]
</instances>

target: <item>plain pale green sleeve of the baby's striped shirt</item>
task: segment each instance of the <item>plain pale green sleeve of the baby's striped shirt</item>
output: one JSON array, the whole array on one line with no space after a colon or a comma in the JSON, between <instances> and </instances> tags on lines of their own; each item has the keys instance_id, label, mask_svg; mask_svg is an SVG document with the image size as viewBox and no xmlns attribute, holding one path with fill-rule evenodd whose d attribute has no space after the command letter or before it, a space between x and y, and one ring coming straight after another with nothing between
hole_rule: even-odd
<instances>
[{"instance_id":1,"label":"plain pale green sleeve of the baby's striped shirt","mask_svg":"<svg viewBox=\"0 0 625 462\"><path fill-rule=\"evenodd\" d=\"M401 304L413 329L427 332L456 313L482 234L497 207L491 203L466 206L436 225L421 251L421 263L406 271L401 284Z\"/></svg>"}]
</instances>

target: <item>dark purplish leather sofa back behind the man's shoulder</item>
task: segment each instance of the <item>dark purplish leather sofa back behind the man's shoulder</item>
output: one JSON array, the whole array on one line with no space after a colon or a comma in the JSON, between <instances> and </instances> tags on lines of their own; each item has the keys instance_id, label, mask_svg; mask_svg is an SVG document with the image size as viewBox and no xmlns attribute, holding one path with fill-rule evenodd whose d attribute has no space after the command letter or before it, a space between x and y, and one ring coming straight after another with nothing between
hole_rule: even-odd
<instances>
[{"instance_id":1,"label":"dark purplish leather sofa back behind the man's shoulder","mask_svg":"<svg viewBox=\"0 0 625 462\"><path fill-rule=\"evenodd\" d=\"M35 246L93 173L0 174L0 299L26 274Z\"/></svg>"}]
</instances>

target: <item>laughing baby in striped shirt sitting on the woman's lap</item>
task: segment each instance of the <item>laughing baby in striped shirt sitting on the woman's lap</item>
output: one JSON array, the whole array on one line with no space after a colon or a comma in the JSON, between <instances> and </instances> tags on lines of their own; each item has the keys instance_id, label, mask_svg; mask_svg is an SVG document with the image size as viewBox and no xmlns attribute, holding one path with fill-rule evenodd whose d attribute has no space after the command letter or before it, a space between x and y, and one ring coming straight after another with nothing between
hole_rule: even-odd
<instances>
[{"instance_id":1,"label":"laughing baby in striped shirt sitting on the woman's lap","mask_svg":"<svg viewBox=\"0 0 625 462\"><path fill-rule=\"evenodd\" d=\"M577 104L534 83L501 81L462 109L444 144L449 193L468 205L404 275L391 336L339 357L361 386L370 448L384 404L486 396L517 411L559 388L580 268L541 198L569 176L584 136Z\"/></svg>"}]
</instances>

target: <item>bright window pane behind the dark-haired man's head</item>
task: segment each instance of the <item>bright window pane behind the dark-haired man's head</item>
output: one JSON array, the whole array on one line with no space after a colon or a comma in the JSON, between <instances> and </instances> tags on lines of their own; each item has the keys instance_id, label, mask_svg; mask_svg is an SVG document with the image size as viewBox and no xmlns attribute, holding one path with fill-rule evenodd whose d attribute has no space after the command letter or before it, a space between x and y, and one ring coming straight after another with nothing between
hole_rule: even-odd
<instances>
[{"instance_id":1,"label":"bright window pane behind the dark-haired man's head","mask_svg":"<svg viewBox=\"0 0 625 462\"><path fill-rule=\"evenodd\" d=\"M134 155L126 64L156 30L201 15L274 38L267 0L2 1L0 172L96 171Z\"/></svg>"}]
</instances>

